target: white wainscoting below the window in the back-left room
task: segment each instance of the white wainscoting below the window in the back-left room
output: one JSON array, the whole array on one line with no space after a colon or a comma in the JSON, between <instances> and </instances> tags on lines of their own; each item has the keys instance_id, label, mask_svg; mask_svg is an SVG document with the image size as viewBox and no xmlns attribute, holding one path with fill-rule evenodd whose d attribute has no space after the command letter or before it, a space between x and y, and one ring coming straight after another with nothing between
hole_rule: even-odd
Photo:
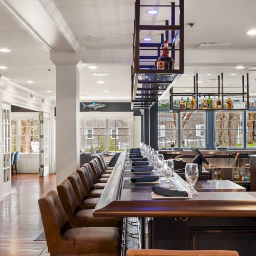
<instances>
[{"instance_id":1,"label":"white wainscoting below the window in the back-left room","mask_svg":"<svg viewBox=\"0 0 256 256\"><path fill-rule=\"evenodd\" d=\"M17 173L34 174L39 172L39 155L19 154Z\"/></svg>"}]
</instances>

